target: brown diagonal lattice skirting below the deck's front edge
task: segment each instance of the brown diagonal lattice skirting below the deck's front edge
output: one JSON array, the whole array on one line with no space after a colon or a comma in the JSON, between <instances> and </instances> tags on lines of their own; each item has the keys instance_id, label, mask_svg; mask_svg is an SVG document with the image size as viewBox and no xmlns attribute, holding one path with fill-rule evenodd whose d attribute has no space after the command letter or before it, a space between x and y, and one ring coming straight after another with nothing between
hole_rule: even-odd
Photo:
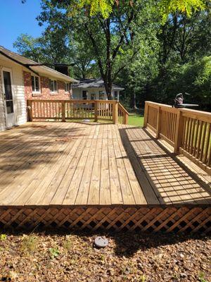
<instances>
[{"instance_id":1,"label":"brown diagonal lattice skirting below the deck's front edge","mask_svg":"<svg viewBox=\"0 0 211 282\"><path fill-rule=\"evenodd\" d=\"M0 208L0 228L35 227L211 233L211 207Z\"/></svg>"}]
</instances>

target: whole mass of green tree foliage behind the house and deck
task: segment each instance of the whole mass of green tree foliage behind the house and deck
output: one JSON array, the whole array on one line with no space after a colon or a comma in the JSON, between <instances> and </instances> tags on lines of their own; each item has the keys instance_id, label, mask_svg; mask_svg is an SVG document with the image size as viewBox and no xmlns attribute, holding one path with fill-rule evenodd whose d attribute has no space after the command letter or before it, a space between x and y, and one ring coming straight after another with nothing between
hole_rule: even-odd
<instances>
[{"instance_id":1,"label":"whole mass of green tree foliage behind the house and deck","mask_svg":"<svg viewBox=\"0 0 211 282\"><path fill-rule=\"evenodd\" d=\"M145 100L210 105L211 15L203 0L43 0L39 39L22 35L15 47L35 61L70 63L75 78L103 78L124 87L121 102ZM165 22L164 22L165 19Z\"/></svg>"}]
</instances>

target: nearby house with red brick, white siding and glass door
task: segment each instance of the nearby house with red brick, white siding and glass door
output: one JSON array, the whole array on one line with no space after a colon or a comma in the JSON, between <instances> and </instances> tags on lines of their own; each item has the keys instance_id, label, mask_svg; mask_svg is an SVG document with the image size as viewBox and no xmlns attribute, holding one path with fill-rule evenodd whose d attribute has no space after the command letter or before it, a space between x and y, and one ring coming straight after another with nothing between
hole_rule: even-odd
<instances>
[{"instance_id":1,"label":"nearby house with red brick, white siding and glass door","mask_svg":"<svg viewBox=\"0 0 211 282\"><path fill-rule=\"evenodd\" d=\"M27 99L70 99L68 75L0 46L0 131L27 121Z\"/></svg>"}]
</instances>

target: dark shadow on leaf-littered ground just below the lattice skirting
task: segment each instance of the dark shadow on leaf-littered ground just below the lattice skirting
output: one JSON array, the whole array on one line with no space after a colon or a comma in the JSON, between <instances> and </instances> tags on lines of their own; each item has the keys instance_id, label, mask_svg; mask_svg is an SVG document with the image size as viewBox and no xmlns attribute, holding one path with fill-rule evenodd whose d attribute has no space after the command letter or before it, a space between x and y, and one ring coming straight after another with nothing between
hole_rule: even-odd
<instances>
[{"instance_id":1,"label":"dark shadow on leaf-littered ground just below the lattice skirting","mask_svg":"<svg viewBox=\"0 0 211 282\"><path fill-rule=\"evenodd\" d=\"M79 238L94 247L96 236L105 236L108 242L113 241L114 254L118 257L132 257L136 252L151 250L159 247L170 246L178 243L188 242L189 240L203 240L206 242L211 239L209 235L200 233L137 233L137 232L106 232L106 231L77 231L60 229L36 228L34 231L10 231L4 230L6 235L46 235L46 236L65 236L77 235ZM184 250L185 251L185 250ZM159 253L159 250L157 251Z\"/></svg>"}]
</instances>

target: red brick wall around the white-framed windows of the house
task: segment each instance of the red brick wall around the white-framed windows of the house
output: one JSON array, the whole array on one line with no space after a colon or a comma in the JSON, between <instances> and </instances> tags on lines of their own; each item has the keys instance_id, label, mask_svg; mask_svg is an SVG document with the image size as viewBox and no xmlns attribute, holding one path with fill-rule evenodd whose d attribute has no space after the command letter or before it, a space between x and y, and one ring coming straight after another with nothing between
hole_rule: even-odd
<instances>
[{"instance_id":1,"label":"red brick wall around the white-framed windows of the house","mask_svg":"<svg viewBox=\"0 0 211 282\"><path fill-rule=\"evenodd\" d=\"M23 71L23 80L24 80L24 90L25 90L25 99L58 99L58 100L68 100L70 99L70 93L65 92L65 82L58 81L58 93L51 93L49 90L49 78L44 76L40 77L40 93L32 93L32 79L31 73Z\"/></svg>"}]
</instances>

